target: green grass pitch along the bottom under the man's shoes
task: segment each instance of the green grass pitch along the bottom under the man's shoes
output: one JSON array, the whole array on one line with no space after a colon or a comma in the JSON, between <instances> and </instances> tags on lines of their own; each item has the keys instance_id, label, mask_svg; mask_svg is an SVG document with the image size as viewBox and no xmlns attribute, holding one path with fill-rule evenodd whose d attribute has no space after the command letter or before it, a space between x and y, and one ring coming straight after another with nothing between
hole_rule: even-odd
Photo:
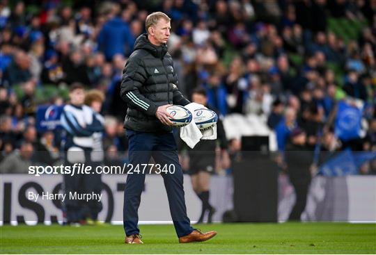
<instances>
[{"instance_id":1,"label":"green grass pitch along the bottom under the man's shoes","mask_svg":"<svg viewBox=\"0 0 376 255\"><path fill-rule=\"evenodd\" d=\"M375 254L376 224L194 225L218 235L179 244L173 225L141 225L144 245L125 245L122 226L3 226L1 254Z\"/></svg>"}]
</instances>

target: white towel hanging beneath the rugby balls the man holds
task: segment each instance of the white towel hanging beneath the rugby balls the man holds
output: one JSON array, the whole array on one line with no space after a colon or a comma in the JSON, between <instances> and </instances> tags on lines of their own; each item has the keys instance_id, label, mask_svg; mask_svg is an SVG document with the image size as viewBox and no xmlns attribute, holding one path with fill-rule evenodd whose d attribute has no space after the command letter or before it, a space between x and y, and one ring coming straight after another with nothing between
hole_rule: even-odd
<instances>
[{"instance_id":1,"label":"white towel hanging beneath the rugby balls the man holds","mask_svg":"<svg viewBox=\"0 0 376 255\"><path fill-rule=\"evenodd\" d=\"M202 104L191 103L187 104L185 108L193 114L195 110L206 107ZM192 120L187 126L180 128L180 138L182 138L182 140L193 149L196 144L200 142L201 138L205 140L217 139L217 125L213 126L212 129L200 131L196 126L196 123L194 123L194 120Z\"/></svg>"}]
</instances>

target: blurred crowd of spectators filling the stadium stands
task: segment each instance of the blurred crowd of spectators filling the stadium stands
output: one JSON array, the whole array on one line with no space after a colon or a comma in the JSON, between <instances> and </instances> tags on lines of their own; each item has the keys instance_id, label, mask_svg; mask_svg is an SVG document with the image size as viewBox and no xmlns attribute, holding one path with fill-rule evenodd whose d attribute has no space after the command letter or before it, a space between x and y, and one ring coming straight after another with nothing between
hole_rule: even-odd
<instances>
[{"instance_id":1,"label":"blurred crowd of spectators filling the stadium stands","mask_svg":"<svg viewBox=\"0 0 376 255\"><path fill-rule=\"evenodd\" d=\"M375 0L0 0L0 161L30 161L31 151L57 160L59 133L38 133L36 109L65 104L77 82L105 94L104 149L126 151L122 72L152 11L172 19L187 98L202 87L222 117L267 116L279 151L301 131L312 150L376 150ZM335 135L343 99L361 108L359 138Z\"/></svg>"}]
</instances>

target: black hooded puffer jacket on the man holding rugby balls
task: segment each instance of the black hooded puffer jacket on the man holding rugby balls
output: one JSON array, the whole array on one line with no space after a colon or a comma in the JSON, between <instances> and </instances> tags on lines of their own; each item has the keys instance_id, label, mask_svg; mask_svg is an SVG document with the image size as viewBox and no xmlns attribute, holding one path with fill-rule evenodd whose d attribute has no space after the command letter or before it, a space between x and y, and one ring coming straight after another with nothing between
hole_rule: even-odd
<instances>
[{"instance_id":1,"label":"black hooded puffer jacket on the man holding rugby balls","mask_svg":"<svg viewBox=\"0 0 376 255\"><path fill-rule=\"evenodd\" d=\"M158 106L189 101L178 90L178 76L166 45L155 46L143 34L134 43L134 52L123 70L120 97L127 102L124 127L134 131L171 131L155 116Z\"/></svg>"}]
</instances>

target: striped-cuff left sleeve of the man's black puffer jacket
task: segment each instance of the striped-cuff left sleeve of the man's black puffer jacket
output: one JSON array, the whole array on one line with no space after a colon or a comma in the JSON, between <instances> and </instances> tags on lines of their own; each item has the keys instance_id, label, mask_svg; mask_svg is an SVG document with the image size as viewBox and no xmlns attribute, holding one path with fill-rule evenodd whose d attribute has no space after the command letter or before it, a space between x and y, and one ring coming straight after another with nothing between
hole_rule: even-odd
<instances>
[{"instance_id":1,"label":"striped-cuff left sleeve of the man's black puffer jacket","mask_svg":"<svg viewBox=\"0 0 376 255\"><path fill-rule=\"evenodd\" d=\"M147 77L141 58L130 56L123 70L120 97L128 106L132 106L132 108L136 108L146 115L154 116L157 106L139 91Z\"/></svg>"}]
</instances>

